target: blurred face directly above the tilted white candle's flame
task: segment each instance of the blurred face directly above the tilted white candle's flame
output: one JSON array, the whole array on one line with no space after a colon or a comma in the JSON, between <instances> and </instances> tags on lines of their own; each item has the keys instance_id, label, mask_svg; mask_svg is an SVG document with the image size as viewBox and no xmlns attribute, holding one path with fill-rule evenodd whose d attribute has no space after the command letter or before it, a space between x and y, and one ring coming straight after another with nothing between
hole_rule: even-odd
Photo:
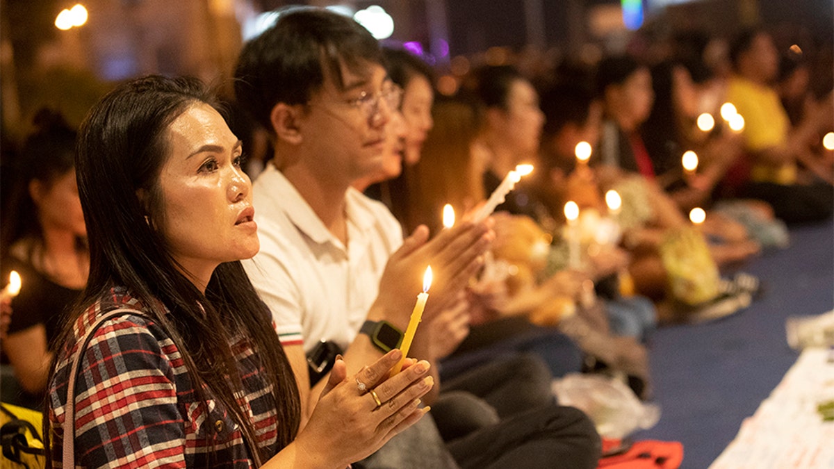
<instances>
[{"instance_id":1,"label":"blurred face directly above the tilted white candle's flame","mask_svg":"<svg viewBox=\"0 0 834 469\"><path fill-rule=\"evenodd\" d=\"M526 80L515 80L507 94L505 119L500 130L502 139L512 146L520 158L529 157L539 149L545 113L539 108L539 94Z\"/></svg>"}]
</instances>

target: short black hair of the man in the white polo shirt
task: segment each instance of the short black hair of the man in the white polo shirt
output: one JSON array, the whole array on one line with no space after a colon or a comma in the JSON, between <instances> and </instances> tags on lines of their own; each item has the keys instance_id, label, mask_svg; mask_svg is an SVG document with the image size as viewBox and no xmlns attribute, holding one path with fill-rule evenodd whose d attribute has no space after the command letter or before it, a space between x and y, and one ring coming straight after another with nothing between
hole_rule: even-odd
<instances>
[{"instance_id":1,"label":"short black hair of the man in the white polo shirt","mask_svg":"<svg viewBox=\"0 0 834 469\"><path fill-rule=\"evenodd\" d=\"M303 104L324 86L325 72L344 87L341 67L359 73L383 64L377 40L352 18L324 8L291 8L244 45L234 70L234 95L264 129L278 103Z\"/></svg>"}]
</instances>

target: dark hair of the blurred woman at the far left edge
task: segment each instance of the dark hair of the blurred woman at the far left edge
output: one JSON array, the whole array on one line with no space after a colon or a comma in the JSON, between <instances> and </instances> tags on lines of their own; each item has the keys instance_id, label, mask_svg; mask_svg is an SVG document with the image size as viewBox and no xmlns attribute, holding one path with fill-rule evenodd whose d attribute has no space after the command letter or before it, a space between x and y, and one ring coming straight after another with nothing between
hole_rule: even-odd
<instances>
[{"instance_id":1,"label":"dark hair of the blurred woman at the far left edge","mask_svg":"<svg viewBox=\"0 0 834 469\"><path fill-rule=\"evenodd\" d=\"M29 183L37 180L49 186L75 169L76 131L63 115L42 108L35 114L33 124L35 130L24 142L17 164L9 168L16 177L9 199L3 201L2 259L6 259L9 248L18 240L43 240L38 207L29 195Z\"/></svg>"}]
</instances>

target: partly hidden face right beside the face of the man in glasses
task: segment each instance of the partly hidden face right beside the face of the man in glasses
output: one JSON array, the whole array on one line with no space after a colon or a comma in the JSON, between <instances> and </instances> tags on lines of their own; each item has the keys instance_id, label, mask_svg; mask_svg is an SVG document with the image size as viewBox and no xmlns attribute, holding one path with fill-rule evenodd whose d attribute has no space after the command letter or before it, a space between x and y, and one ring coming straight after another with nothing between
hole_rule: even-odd
<instances>
[{"instance_id":1,"label":"partly hidden face right beside the face of the man in glasses","mask_svg":"<svg viewBox=\"0 0 834 469\"><path fill-rule=\"evenodd\" d=\"M420 161L425 137L435 124L431 119L431 105L435 92L431 83L422 75L415 75L405 85L403 94L403 119L405 120L405 164Z\"/></svg>"}]
</instances>

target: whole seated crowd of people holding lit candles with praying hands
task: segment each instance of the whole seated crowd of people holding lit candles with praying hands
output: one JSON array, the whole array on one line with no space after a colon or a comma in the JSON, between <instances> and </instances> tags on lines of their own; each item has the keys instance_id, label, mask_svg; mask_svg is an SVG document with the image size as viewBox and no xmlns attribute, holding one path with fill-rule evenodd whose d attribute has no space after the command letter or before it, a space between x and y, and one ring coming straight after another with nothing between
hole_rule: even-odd
<instances>
[{"instance_id":1,"label":"whole seated crowd of people holding lit candles with praying hands","mask_svg":"<svg viewBox=\"0 0 834 469\"><path fill-rule=\"evenodd\" d=\"M750 305L746 260L834 209L817 51L664 40L440 86L299 8L234 96L149 76L77 130L43 110L3 201L3 402L44 411L54 465L596 467L553 381L651 401L652 331Z\"/></svg>"}]
</instances>

